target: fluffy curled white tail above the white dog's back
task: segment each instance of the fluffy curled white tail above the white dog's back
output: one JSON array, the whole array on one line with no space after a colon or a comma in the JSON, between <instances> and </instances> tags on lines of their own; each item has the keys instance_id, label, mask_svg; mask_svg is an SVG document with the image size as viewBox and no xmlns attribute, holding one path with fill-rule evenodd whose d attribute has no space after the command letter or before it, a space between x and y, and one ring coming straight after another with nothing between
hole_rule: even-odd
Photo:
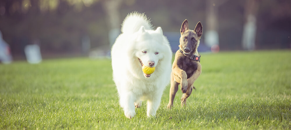
<instances>
[{"instance_id":1,"label":"fluffy curled white tail above the white dog's back","mask_svg":"<svg viewBox=\"0 0 291 130\"><path fill-rule=\"evenodd\" d=\"M152 29L152 24L150 20L144 13L131 12L125 17L122 26L122 33L135 33L143 26L146 30Z\"/></svg>"}]
</instances>

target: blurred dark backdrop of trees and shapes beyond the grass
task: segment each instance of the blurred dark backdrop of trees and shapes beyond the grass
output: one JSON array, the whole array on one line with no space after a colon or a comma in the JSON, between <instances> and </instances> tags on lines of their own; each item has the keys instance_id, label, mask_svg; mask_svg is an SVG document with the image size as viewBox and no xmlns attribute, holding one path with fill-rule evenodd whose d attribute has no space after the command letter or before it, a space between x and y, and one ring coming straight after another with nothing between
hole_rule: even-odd
<instances>
[{"instance_id":1,"label":"blurred dark backdrop of trees and shapes beyond the grass","mask_svg":"<svg viewBox=\"0 0 291 130\"><path fill-rule=\"evenodd\" d=\"M190 29L203 25L198 51L290 49L290 0L1 0L0 60L109 57L133 11L162 27L173 51L185 19Z\"/></svg>"}]
</instances>

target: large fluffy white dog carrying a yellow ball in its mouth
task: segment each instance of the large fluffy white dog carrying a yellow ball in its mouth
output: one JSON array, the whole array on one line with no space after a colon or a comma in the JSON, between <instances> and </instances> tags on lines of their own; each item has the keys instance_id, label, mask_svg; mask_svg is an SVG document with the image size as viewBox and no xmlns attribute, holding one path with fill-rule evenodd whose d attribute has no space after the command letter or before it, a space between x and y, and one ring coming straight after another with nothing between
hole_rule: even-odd
<instances>
[{"instance_id":1,"label":"large fluffy white dog carrying a yellow ball in its mouth","mask_svg":"<svg viewBox=\"0 0 291 130\"><path fill-rule=\"evenodd\" d=\"M119 103L127 118L135 116L135 107L147 101L147 116L155 116L166 85L170 81L172 51L161 27L152 29L145 14L133 12L124 19L111 49L113 80ZM155 67L143 73L142 66Z\"/></svg>"}]
</instances>

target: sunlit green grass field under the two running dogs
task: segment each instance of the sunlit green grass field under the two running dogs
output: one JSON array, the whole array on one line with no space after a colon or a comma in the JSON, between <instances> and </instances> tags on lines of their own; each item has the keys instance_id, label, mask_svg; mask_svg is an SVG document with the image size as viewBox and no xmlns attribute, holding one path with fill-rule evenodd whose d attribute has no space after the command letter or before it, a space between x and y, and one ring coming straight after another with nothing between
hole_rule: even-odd
<instances>
[{"instance_id":1,"label":"sunlit green grass field under the two running dogs","mask_svg":"<svg viewBox=\"0 0 291 130\"><path fill-rule=\"evenodd\" d=\"M291 129L290 50L201 55L187 107L168 85L156 118L125 118L108 59L0 64L0 129Z\"/></svg>"}]
</instances>

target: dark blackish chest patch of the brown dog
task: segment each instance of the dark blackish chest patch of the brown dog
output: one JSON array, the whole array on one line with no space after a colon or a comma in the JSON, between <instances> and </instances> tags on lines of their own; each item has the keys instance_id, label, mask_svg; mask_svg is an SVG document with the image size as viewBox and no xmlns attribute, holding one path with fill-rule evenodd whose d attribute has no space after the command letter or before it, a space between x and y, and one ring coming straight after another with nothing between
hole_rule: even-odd
<instances>
[{"instance_id":1,"label":"dark blackish chest patch of the brown dog","mask_svg":"<svg viewBox=\"0 0 291 130\"><path fill-rule=\"evenodd\" d=\"M186 56L181 57L178 60L178 66L187 73L187 78L189 78L198 68L197 62Z\"/></svg>"}]
</instances>

